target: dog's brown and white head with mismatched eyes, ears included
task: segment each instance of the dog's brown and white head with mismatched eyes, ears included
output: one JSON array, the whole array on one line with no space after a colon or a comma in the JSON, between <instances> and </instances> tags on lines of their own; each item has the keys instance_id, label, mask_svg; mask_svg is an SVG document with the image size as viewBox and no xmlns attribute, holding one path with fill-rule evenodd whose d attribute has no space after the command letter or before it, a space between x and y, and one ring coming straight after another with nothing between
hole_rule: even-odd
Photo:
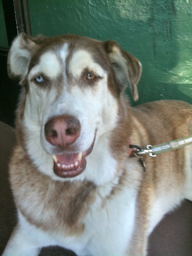
<instances>
[{"instance_id":1,"label":"dog's brown and white head with mismatched eyes, ears included","mask_svg":"<svg viewBox=\"0 0 192 256\"><path fill-rule=\"evenodd\" d=\"M29 156L42 172L73 178L87 169L96 144L108 147L127 81L138 99L141 65L113 41L21 34L9 52L8 73L24 88L17 119Z\"/></svg>"}]
</instances>

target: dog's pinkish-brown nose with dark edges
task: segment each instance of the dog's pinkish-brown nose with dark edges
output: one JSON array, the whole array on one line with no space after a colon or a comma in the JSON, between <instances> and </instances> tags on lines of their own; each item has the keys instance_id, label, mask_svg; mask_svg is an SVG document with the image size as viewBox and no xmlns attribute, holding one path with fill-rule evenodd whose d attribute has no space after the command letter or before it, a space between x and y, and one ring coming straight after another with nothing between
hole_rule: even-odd
<instances>
[{"instance_id":1,"label":"dog's pinkish-brown nose with dark edges","mask_svg":"<svg viewBox=\"0 0 192 256\"><path fill-rule=\"evenodd\" d=\"M54 146L66 148L77 140L81 124L75 116L63 115L50 119L44 128L46 140Z\"/></svg>"}]
</instances>

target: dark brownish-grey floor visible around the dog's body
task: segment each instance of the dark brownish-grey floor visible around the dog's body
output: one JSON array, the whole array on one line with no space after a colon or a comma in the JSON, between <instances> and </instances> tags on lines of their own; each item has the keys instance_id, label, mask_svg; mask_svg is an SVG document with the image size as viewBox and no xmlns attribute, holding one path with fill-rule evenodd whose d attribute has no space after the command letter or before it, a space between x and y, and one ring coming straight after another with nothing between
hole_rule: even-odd
<instances>
[{"instance_id":1,"label":"dark brownish-grey floor visible around the dog's body","mask_svg":"<svg viewBox=\"0 0 192 256\"><path fill-rule=\"evenodd\" d=\"M14 129L0 122L0 255L17 221L8 178L8 163L15 144ZM53 255L75 256L62 248L46 248L41 252L41 256ZM192 202L185 200L175 212L165 216L150 236L148 256L191 255Z\"/></svg>"}]
</instances>

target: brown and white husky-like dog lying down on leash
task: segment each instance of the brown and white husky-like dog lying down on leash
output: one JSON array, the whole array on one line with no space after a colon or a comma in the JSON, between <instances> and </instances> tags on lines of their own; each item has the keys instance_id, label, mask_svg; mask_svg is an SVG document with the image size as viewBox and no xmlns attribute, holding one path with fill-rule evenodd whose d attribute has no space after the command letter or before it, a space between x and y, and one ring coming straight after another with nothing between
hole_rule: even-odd
<instances>
[{"instance_id":1,"label":"brown and white husky-like dog lying down on leash","mask_svg":"<svg viewBox=\"0 0 192 256\"><path fill-rule=\"evenodd\" d=\"M20 34L8 55L19 79L10 182L18 224L3 256L58 245L78 256L144 256L165 213L192 200L192 146L143 165L130 145L192 134L192 106L138 99L139 60L114 41Z\"/></svg>"}]
</instances>

